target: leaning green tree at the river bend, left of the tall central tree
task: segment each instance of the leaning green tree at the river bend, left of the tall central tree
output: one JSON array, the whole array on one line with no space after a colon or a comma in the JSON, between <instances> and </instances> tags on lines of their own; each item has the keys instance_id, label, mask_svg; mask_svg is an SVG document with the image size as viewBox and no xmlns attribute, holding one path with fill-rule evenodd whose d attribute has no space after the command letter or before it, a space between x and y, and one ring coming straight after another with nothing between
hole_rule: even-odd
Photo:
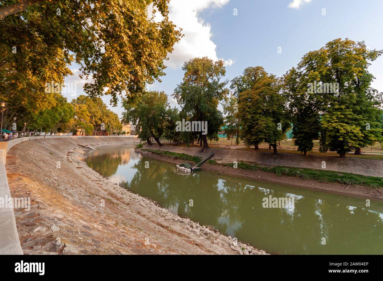
<instances>
[{"instance_id":1,"label":"leaning green tree at the river bend, left of the tall central tree","mask_svg":"<svg viewBox=\"0 0 383 281\"><path fill-rule=\"evenodd\" d=\"M169 122L169 115L173 110L169 106L167 95L162 91L147 91L142 94L136 105L132 106L127 99L123 99L123 122L136 124L139 138L151 145L153 137L162 146L160 137L164 134L165 125Z\"/></svg>"}]
</instances>

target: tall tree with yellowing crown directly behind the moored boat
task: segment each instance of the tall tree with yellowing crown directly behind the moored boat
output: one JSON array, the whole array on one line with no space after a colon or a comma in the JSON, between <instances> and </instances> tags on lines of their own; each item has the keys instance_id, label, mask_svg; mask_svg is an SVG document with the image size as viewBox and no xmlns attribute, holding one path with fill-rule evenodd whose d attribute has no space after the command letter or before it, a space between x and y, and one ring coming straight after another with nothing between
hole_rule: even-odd
<instances>
[{"instance_id":1,"label":"tall tree with yellowing crown directly behind the moored boat","mask_svg":"<svg viewBox=\"0 0 383 281\"><path fill-rule=\"evenodd\" d=\"M191 121L207 122L207 133L199 133L203 148L209 148L207 138L215 137L223 125L222 112L218 103L226 95L227 81L221 81L226 73L223 61L203 58L193 58L185 62L183 81L175 88L173 96L182 107L182 112Z\"/></svg>"}]
</instances>

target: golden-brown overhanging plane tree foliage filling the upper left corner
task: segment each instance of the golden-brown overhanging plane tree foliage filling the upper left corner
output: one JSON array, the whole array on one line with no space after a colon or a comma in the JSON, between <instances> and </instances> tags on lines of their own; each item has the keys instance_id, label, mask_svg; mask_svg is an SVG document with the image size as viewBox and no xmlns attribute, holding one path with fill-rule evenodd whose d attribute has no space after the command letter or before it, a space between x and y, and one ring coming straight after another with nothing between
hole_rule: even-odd
<instances>
[{"instance_id":1,"label":"golden-brown overhanging plane tree foliage filling the upper left corner","mask_svg":"<svg viewBox=\"0 0 383 281\"><path fill-rule=\"evenodd\" d=\"M168 18L169 0L0 2L0 97L5 123L54 107L45 83L62 83L80 64L91 96L133 100L160 81L164 60L182 36ZM160 20L154 14L160 15Z\"/></svg>"}]
</instances>

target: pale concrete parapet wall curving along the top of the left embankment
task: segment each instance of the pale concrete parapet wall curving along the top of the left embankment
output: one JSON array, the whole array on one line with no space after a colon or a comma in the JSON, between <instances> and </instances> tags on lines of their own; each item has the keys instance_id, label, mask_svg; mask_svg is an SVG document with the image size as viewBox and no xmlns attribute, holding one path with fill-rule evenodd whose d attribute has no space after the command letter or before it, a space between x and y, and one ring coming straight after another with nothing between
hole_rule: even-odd
<instances>
[{"instance_id":1,"label":"pale concrete parapet wall curving along the top of the left embankment","mask_svg":"<svg viewBox=\"0 0 383 281\"><path fill-rule=\"evenodd\" d=\"M108 141L109 138L113 140L126 138L136 138L136 136L46 136L49 138L73 138L77 140L87 140L95 142L98 140ZM11 197L8 186L7 171L5 169L5 162L7 159L7 152L18 143L28 140L41 139L44 136L29 136L25 138L16 138L15 140L0 142L0 200L6 200ZM5 202L6 204L8 201ZM8 205L8 204L7 204ZM20 240L17 232L15 214L13 208L0 208L0 255L22 255Z\"/></svg>"}]
</instances>

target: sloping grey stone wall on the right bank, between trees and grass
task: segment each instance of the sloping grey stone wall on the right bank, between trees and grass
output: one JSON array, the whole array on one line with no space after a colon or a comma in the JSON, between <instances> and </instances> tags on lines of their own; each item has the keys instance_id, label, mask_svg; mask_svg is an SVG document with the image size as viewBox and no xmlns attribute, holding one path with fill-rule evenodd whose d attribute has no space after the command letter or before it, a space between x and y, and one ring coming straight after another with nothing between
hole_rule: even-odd
<instances>
[{"instance_id":1,"label":"sloping grey stone wall on the right bank, between trees and grass","mask_svg":"<svg viewBox=\"0 0 383 281\"><path fill-rule=\"evenodd\" d=\"M237 149L205 149L201 152L202 148L199 146L190 146L188 148L187 146L163 145L159 147L157 144L153 144L152 146L145 145L144 147L149 149L185 153L194 156L205 156L214 150L215 154L212 159L223 159L227 162L245 161L256 162L261 165L264 164L318 170L322 169L322 161L325 161L326 170L368 175L373 177L383 177L383 161L381 160L355 157L346 157L345 159L341 159L339 157L303 156L303 154L284 154L283 152L278 152L278 154L274 155L269 152L244 151Z\"/></svg>"}]
</instances>

